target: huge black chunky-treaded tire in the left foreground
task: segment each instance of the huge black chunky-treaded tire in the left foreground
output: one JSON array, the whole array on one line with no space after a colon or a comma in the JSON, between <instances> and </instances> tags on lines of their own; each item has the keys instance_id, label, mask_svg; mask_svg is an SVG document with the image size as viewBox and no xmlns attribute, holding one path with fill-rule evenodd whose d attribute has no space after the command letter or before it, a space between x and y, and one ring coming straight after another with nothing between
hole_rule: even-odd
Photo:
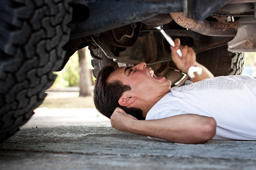
<instances>
[{"instance_id":1,"label":"huge black chunky-treaded tire in the left foreground","mask_svg":"<svg viewBox=\"0 0 256 170\"><path fill-rule=\"evenodd\" d=\"M1 0L0 141L34 114L65 57L72 9L66 0Z\"/></svg>"}]
</instances>

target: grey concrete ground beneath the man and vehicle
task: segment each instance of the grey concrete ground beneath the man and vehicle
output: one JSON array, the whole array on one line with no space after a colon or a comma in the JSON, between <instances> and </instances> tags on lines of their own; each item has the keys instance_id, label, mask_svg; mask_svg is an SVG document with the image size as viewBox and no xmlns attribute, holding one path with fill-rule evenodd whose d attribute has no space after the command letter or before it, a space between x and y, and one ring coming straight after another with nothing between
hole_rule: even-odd
<instances>
[{"instance_id":1,"label":"grey concrete ground beneath the man and vehicle","mask_svg":"<svg viewBox=\"0 0 256 170\"><path fill-rule=\"evenodd\" d=\"M256 141L173 144L117 131L95 109L38 108L0 144L1 170L156 168L256 169Z\"/></svg>"}]
</instances>

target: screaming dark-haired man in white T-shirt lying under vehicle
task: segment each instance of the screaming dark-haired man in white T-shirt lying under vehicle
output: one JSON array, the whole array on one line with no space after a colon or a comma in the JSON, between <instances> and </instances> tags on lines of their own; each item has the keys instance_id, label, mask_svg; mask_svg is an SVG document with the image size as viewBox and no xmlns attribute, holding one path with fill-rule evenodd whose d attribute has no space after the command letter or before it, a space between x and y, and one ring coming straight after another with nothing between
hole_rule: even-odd
<instances>
[{"instance_id":1,"label":"screaming dark-haired man in white T-shirt lying under vehicle","mask_svg":"<svg viewBox=\"0 0 256 170\"><path fill-rule=\"evenodd\" d=\"M182 59L176 53L179 48ZM179 39L172 60L184 73L193 65L202 67L203 74L191 79L190 85L171 88L171 82L152 74L146 63L108 66L99 72L94 103L113 128L184 144L256 140L255 78L214 77L196 62L192 48L180 46Z\"/></svg>"}]
</instances>

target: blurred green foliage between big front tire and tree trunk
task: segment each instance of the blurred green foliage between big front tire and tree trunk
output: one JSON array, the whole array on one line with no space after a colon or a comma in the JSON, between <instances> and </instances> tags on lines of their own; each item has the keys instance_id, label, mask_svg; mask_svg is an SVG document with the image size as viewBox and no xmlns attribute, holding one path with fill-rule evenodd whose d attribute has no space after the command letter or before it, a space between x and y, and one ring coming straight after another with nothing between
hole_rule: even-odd
<instances>
[{"instance_id":1,"label":"blurred green foliage between big front tire and tree trunk","mask_svg":"<svg viewBox=\"0 0 256 170\"><path fill-rule=\"evenodd\" d=\"M79 83L78 53L70 57L63 70L53 73L58 76L52 87L77 86Z\"/></svg>"}]
</instances>

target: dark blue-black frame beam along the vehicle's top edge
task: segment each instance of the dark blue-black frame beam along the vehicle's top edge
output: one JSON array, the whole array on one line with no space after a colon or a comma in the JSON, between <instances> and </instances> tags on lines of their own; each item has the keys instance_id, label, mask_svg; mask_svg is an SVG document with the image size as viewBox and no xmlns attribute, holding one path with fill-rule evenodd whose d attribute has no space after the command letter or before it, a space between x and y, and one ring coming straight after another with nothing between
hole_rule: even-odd
<instances>
[{"instance_id":1,"label":"dark blue-black frame beam along the vehicle's top edge","mask_svg":"<svg viewBox=\"0 0 256 170\"><path fill-rule=\"evenodd\" d=\"M71 4L84 5L90 12L85 21L69 25L70 38L105 32L171 12L184 12L186 17L201 21L227 2L228 0L73 0Z\"/></svg>"}]
</instances>

